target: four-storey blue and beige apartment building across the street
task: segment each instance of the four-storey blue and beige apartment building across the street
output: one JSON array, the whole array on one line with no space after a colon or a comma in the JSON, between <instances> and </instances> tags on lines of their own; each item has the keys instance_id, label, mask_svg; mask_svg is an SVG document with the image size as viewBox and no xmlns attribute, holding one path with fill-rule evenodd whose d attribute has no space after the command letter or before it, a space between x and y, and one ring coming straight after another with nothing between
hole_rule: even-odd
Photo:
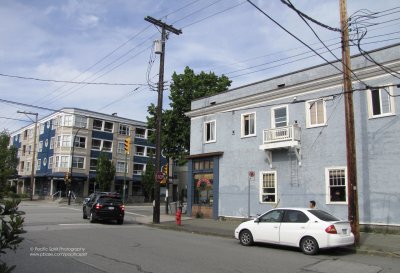
<instances>
[{"instance_id":1,"label":"four-storey blue and beige apartment building across the street","mask_svg":"<svg viewBox=\"0 0 400 273\"><path fill-rule=\"evenodd\" d=\"M104 152L116 167L111 190L122 193L125 180L126 195L134 201L143 200L141 175L155 155L146 123L116 114L64 108L38 121L36 139L34 131L35 124L30 124L11 134L10 145L18 148L19 192L29 191L34 168L34 195L65 195L65 177L71 176L74 194L87 196L99 187L96 167ZM131 143L128 156L127 138Z\"/></svg>"}]
</instances>

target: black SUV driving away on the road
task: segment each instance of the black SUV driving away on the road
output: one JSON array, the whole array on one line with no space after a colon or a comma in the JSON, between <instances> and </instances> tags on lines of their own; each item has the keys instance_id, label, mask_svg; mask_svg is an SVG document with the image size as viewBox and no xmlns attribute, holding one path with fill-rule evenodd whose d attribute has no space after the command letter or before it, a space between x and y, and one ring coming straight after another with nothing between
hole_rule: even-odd
<instances>
[{"instance_id":1,"label":"black SUV driving away on the road","mask_svg":"<svg viewBox=\"0 0 400 273\"><path fill-rule=\"evenodd\" d=\"M97 220L116 220L124 223L125 206L118 194L100 192L93 193L83 202L83 219L89 217L90 222Z\"/></svg>"}]
</instances>

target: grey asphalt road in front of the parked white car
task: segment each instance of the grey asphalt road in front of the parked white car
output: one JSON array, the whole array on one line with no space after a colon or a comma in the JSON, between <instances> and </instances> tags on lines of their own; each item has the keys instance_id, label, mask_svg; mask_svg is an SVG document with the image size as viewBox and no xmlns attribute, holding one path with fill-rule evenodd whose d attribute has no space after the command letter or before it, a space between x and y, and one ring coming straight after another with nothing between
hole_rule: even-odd
<instances>
[{"instance_id":1,"label":"grey asphalt road in front of the parked white car","mask_svg":"<svg viewBox=\"0 0 400 273\"><path fill-rule=\"evenodd\" d=\"M400 259L243 247L234 239L138 225L150 208L130 207L124 225L90 224L80 207L26 202L25 240L4 260L14 272L399 272Z\"/></svg>"}]
</instances>

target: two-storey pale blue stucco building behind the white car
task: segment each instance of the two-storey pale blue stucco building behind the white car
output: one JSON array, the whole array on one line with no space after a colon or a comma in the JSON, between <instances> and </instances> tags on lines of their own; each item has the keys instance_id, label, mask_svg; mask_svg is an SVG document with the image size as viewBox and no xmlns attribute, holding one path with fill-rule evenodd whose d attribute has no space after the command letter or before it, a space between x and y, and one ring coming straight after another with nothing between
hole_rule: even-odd
<instances>
[{"instance_id":1,"label":"two-storey pale blue stucco building behind the white car","mask_svg":"<svg viewBox=\"0 0 400 273\"><path fill-rule=\"evenodd\" d=\"M400 226L400 44L351 58L360 223ZM379 64L379 65L378 65ZM335 67L338 69L336 69ZM341 62L192 102L188 212L317 207L348 218Z\"/></svg>"}]
</instances>

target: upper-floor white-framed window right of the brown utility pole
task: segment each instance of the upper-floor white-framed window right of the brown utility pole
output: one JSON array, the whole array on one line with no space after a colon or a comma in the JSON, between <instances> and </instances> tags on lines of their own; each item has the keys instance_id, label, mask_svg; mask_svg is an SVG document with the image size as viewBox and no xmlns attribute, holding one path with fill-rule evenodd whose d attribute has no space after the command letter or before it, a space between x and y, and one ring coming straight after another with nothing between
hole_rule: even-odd
<instances>
[{"instance_id":1,"label":"upper-floor white-framed window right of the brown utility pole","mask_svg":"<svg viewBox=\"0 0 400 273\"><path fill-rule=\"evenodd\" d=\"M395 114L395 100L392 87L371 89L367 93L367 98L370 118Z\"/></svg>"}]
</instances>

